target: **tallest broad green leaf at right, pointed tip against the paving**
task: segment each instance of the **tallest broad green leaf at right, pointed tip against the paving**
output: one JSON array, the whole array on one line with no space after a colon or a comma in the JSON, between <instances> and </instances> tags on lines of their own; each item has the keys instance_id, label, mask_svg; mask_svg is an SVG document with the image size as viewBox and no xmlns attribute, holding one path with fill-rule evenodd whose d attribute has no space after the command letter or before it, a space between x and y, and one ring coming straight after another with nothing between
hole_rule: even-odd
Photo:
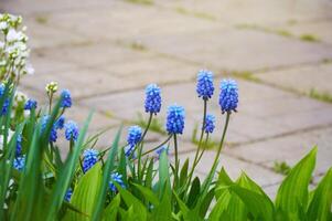
<instances>
[{"instance_id":1,"label":"tallest broad green leaf at right, pointed tip against the paving","mask_svg":"<svg viewBox=\"0 0 332 221\"><path fill-rule=\"evenodd\" d=\"M307 208L308 186L315 165L315 155L317 147L290 170L278 190L276 207L291 219L299 218L301 208Z\"/></svg>"}]
</instances>

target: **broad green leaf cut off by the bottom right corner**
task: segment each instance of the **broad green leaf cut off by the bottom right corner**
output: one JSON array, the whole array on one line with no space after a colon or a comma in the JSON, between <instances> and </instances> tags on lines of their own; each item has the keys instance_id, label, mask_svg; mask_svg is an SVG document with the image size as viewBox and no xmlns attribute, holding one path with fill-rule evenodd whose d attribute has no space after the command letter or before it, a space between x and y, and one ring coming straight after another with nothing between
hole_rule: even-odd
<instances>
[{"instance_id":1,"label":"broad green leaf cut off by the bottom right corner","mask_svg":"<svg viewBox=\"0 0 332 221\"><path fill-rule=\"evenodd\" d=\"M308 220L331 220L332 206L332 168L314 190L313 198L308 209Z\"/></svg>"}]
</instances>

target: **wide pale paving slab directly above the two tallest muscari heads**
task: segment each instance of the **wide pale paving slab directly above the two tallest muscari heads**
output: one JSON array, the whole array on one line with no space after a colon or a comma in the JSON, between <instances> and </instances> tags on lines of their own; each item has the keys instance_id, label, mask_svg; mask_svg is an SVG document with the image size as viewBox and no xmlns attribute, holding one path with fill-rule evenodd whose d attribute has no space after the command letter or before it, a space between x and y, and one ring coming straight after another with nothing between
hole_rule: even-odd
<instances>
[{"instance_id":1,"label":"wide pale paving slab directly above the two tallest muscari heads","mask_svg":"<svg viewBox=\"0 0 332 221\"><path fill-rule=\"evenodd\" d=\"M139 41L153 51L221 70L264 70L332 57L332 46L253 30L162 34Z\"/></svg>"}]
</instances>

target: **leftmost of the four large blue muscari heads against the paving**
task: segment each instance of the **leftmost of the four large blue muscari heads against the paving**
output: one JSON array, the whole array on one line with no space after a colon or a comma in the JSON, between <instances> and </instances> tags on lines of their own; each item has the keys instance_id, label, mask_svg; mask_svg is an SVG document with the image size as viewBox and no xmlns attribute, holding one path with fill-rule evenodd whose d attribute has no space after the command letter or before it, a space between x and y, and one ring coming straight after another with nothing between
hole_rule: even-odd
<instances>
[{"instance_id":1,"label":"leftmost of the four large blue muscari heads against the paving","mask_svg":"<svg viewBox=\"0 0 332 221\"><path fill-rule=\"evenodd\" d=\"M149 84L146 88L146 112L157 114L161 107L160 87L157 84Z\"/></svg>"}]
</instances>

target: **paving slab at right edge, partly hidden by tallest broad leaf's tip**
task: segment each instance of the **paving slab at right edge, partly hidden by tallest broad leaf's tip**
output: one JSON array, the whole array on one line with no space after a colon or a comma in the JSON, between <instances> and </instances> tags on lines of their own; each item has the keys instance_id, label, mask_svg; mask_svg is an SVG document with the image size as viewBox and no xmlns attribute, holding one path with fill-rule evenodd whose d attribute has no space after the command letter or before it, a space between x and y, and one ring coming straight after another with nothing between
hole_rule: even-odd
<instances>
[{"instance_id":1,"label":"paving slab at right edge, partly hidden by tallest broad leaf's tip","mask_svg":"<svg viewBox=\"0 0 332 221\"><path fill-rule=\"evenodd\" d=\"M225 151L237 158L272 168L276 160L293 166L317 145L315 175L319 175L331 167L331 135L332 128L329 127L228 148Z\"/></svg>"}]
</instances>

